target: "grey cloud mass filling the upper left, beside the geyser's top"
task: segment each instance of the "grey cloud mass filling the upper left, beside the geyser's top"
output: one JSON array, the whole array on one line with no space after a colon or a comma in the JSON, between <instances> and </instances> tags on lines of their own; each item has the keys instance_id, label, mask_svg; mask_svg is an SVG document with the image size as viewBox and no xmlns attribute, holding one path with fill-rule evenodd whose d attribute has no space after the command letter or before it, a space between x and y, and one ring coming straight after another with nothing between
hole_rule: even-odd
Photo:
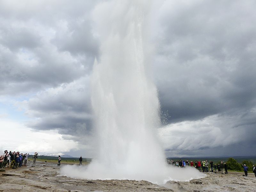
<instances>
[{"instance_id":1,"label":"grey cloud mass filling the upper left, beside the geyser's top","mask_svg":"<svg viewBox=\"0 0 256 192\"><path fill-rule=\"evenodd\" d=\"M89 74L98 54L90 21L95 3L2 2L1 94L40 91Z\"/></svg>"}]
</instances>

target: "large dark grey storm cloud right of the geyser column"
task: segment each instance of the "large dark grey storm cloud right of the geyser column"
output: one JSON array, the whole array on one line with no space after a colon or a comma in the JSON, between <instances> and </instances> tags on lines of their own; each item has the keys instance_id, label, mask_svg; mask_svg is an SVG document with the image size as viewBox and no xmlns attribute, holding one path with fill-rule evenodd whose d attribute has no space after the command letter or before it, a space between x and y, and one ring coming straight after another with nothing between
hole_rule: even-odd
<instances>
[{"instance_id":1,"label":"large dark grey storm cloud right of the geyser column","mask_svg":"<svg viewBox=\"0 0 256 192\"><path fill-rule=\"evenodd\" d=\"M255 107L254 4L166 1L162 6L156 82L170 122Z\"/></svg>"}]
</instances>

